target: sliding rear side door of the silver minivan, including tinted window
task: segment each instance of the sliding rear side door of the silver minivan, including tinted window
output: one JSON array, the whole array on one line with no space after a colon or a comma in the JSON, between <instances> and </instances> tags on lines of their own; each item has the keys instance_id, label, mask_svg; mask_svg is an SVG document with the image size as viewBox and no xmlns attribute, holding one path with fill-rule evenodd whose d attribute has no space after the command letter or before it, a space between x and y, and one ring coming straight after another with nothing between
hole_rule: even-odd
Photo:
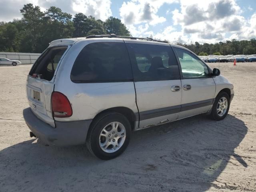
<instances>
[{"instance_id":1,"label":"sliding rear side door of the silver minivan, including tinted window","mask_svg":"<svg viewBox=\"0 0 256 192\"><path fill-rule=\"evenodd\" d=\"M134 74L139 128L176 120L182 92L178 64L170 45L125 42Z\"/></svg>"}]
</instances>

